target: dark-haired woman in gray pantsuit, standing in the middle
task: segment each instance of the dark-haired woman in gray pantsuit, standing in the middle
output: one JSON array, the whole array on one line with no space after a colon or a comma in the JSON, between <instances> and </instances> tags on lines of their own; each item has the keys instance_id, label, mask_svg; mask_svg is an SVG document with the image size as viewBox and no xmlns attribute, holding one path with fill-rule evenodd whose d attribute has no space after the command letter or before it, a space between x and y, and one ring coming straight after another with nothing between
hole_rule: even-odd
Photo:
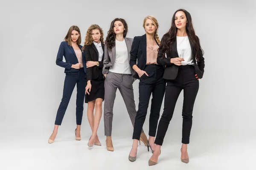
<instances>
[{"instance_id":1,"label":"dark-haired woman in gray pantsuit, standing in the middle","mask_svg":"<svg viewBox=\"0 0 256 170\"><path fill-rule=\"evenodd\" d=\"M128 26L124 19L116 18L111 22L111 27L105 41L105 57L103 71L105 76L105 103L104 103L104 124L107 150L113 151L111 139L113 105L118 88L125 102L126 109L134 126L136 107L134 102L133 75L135 71L131 68L130 51L133 39L126 38ZM142 130L140 141L145 146L147 136Z\"/></svg>"}]
</instances>

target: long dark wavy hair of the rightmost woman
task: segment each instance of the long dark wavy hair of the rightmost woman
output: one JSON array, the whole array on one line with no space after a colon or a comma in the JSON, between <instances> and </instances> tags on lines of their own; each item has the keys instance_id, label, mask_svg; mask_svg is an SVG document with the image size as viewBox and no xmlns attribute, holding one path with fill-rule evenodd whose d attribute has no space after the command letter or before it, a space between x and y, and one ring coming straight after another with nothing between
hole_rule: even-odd
<instances>
[{"instance_id":1,"label":"long dark wavy hair of the rightmost woman","mask_svg":"<svg viewBox=\"0 0 256 170\"><path fill-rule=\"evenodd\" d=\"M172 50L171 49L172 44L173 44L173 42L175 42L176 34L177 34L177 27L175 26L175 14L178 11L183 11L186 15L186 19L187 19L186 33L188 34L189 41L192 43L192 46L193 46L193 50L192 50L192 51L194 51L193 55L195 56L197 61L199 61L198 51L201 50L203 54L204 54L204 51L200 46L199 38L195 35L195 30L194 30L194 27L193 27L193 24L192 24L191 15L185 9L178 9L173 14L171 28L169 29L169 31L167 31L166 34L163 35L163 38L161 40L161 44L160 44L160 47L159 47L159 51L162 51L162 54L166 54L166 52ZM163 55L163 57L165 57L165 55Z\"/></svg>"}]
</instances>

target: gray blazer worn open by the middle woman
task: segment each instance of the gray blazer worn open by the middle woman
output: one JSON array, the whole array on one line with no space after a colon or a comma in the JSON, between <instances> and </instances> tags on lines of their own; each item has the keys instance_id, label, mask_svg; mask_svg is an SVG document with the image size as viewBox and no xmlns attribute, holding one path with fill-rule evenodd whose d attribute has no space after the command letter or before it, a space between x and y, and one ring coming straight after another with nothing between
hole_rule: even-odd
<instances>
[{"instance_id":1,"label":"gray blazer worn open by the middle woman","mask_svg":"<svg viewBox=\"0 0 256 170\"><path fill-rule=\"evenodd\" d=\"M133 39L132 38L125 38L125 43L127 46L127 52L128 52L128 61L130 61L130 51L131 51L131 45L132 45ZM103 60L103 70L102 74L108 74L108 69L114 65L116 60L116 46L113 46L112 49L108 50L107 45L105 45L105 54L104 54L104 60ZM134 75L135 71L133 68L131 68L131 74Z\"/></svg>"}]
</instances>

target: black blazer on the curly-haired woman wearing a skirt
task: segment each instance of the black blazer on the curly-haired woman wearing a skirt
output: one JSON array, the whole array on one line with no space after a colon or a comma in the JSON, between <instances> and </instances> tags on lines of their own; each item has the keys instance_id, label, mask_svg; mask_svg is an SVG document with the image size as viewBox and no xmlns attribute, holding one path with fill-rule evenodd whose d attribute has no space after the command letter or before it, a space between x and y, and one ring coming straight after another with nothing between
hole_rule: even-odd
<instances>
[{"instance_id":1,"label":"black blazer on the curly-haired woman wearing a skirt","mask_svg":"<svg viewBox=\"0 0 256 170\"><path fill-rule=\"evenodd\" d=\"M99 67L95 65L93 67L87 68L87 73L86 73L87 80L97 79L99 77L99 68L103 68L104 44L102 44L102 49L103 49L103 56L102 56L102 60L99 61L99 52L93 43L90 45L85 45L84 47L84 55L85 55L86 61L99 62Z\"/></svg>"}]
</instances>

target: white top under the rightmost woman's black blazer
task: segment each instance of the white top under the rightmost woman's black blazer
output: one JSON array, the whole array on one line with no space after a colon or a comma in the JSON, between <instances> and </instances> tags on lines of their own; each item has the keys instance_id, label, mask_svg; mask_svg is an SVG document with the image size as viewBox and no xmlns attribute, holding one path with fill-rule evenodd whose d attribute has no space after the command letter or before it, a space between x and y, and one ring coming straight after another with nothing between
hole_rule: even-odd
<instances>
[{"instance_id":1,"label":"white top under the rightmost woman's black blazer","mask_svg":"<svg viewBox=\"0 0 256 170\"><path fill-rule=\"evenodd\" d=\"M177 36L177 51L178 51L179 57L185 60L181 62L181 65L194 65L188 36L186 37Z\"/></svg>"}]
</instances>

